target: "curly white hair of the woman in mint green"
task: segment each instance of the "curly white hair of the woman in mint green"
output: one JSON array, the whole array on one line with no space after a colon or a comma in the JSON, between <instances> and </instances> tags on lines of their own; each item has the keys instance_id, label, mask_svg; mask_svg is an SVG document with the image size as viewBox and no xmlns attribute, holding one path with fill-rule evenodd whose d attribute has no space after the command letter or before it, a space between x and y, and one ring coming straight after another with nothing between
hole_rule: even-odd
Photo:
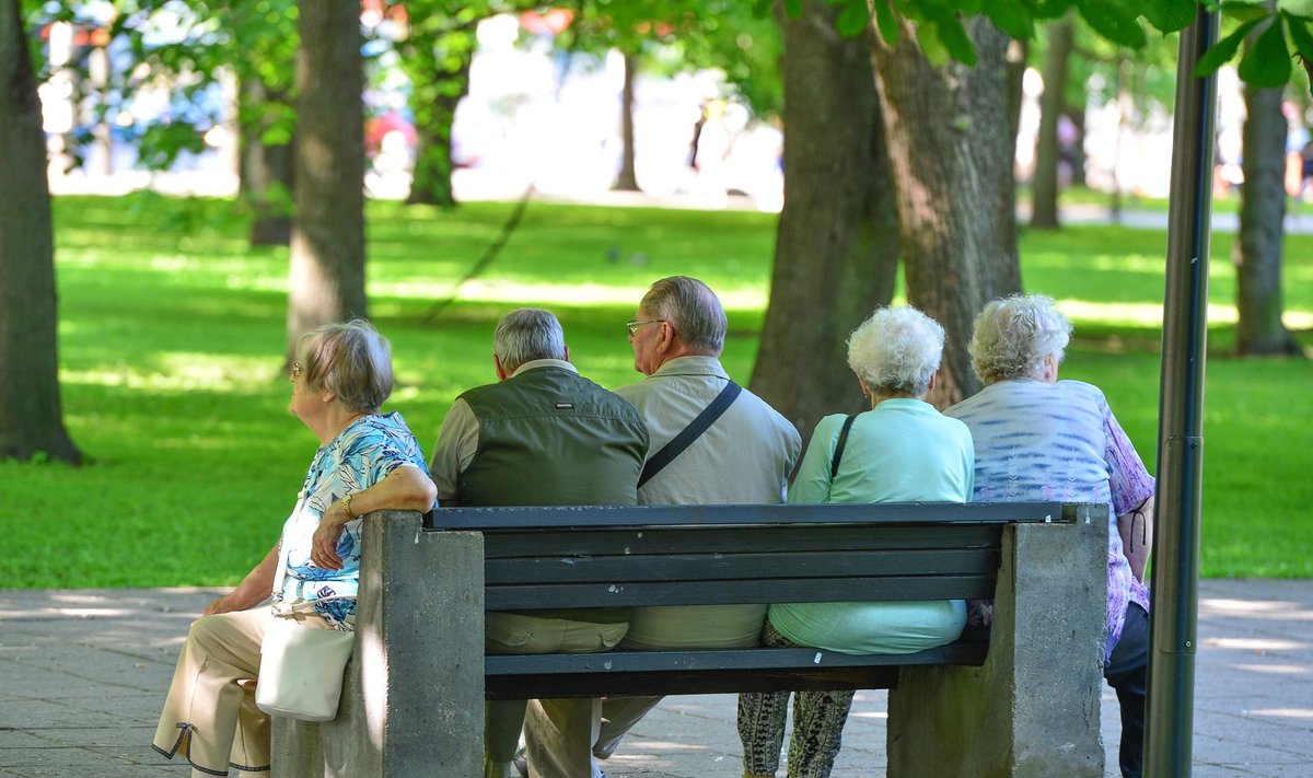
<instances>
[{"instance_id":1,"label":"curly white hair of the woman in mint green","mask_svg":"<svg viewBox=\"0 0 1313 778\"><path fill-rule=\"evenodd\" d=\"M848 367L876 394L922 397L944 356L944 327L915 308L877 308L848 336Z\"/></svg>"}]
</instances>

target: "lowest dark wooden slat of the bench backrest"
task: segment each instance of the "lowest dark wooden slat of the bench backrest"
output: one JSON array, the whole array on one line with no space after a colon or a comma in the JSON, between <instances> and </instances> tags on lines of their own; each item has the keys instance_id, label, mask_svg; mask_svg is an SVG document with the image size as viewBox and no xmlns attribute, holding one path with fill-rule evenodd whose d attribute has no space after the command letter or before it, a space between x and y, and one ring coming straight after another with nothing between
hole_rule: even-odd
<instances>
[{"instance_id":1,"label":"lowest dark wooden slat of the bench backrest","mask_svg":"<svg viewBox=\"0 0 1313 778\"><path fill-rule=\"evenodd\" d=\"M882 602L990 598L995 576L889 576L750 581L616 581L487 586L484 610L735 605L772 602Z\"/></svg>"}]
</instances>

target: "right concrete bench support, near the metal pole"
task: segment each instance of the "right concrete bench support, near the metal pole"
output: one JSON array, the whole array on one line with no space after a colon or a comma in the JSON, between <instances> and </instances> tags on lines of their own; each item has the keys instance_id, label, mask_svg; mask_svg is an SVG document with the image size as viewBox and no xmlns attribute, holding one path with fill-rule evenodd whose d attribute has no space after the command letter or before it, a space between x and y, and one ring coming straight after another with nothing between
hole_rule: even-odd
<instances>
[{"instance_id":1,"label":"right concrete bench support, near the metal pole","mask_svg":"<svg viewBox=\"0 0 1313 778\"><path fill-rule=\"evenodd\" d=\"M889 777L1102 778L1108 518L1003 535L981 668L903 668L889 693Z\"/></svg>"}]
</instances>

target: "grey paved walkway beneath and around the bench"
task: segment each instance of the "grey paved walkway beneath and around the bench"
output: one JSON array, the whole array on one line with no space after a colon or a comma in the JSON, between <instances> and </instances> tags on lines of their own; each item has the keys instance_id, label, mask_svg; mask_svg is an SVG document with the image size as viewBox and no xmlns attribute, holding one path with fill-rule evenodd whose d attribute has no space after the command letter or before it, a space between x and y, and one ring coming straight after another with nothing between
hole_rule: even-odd
<instances>
[{"instance_id":1,"label":"grey paved walkway beneath and around the bench","mask_svg":"<svg viewBox=\"0 0 1313 778\"><path fill-rule=\"evenodd\" d=\"M213 597L0 590L0 777L186 775L150 740L181 637ZM1194 775L1313 775L1313 581L1204 581L1199 637ZM1116 702L1104 703L1116 744ZM884 775L884 737L885 695L859 694L835 778ZM605 766L737 778L734 698L667 699Z\"/></svg>"}]
</instances>

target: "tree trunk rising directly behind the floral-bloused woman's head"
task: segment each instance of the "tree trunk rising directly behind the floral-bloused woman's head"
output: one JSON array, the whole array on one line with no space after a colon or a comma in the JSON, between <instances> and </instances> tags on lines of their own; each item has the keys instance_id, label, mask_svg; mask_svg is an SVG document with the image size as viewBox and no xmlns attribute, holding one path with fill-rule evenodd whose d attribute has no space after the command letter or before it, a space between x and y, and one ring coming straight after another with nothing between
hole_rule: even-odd
<instances>
[{"instance_id":1,"label":"tree trunk rising directly behind the floral-bloused woman's head","mask_svg":"<svg viewBox=\"0 0 1313 778\"><path fill-rule=\"evenodd\" d=\"M360 4L302 0L299 9L289 355L306 331L365 315Z\"/></svg>"}]
</instances>

